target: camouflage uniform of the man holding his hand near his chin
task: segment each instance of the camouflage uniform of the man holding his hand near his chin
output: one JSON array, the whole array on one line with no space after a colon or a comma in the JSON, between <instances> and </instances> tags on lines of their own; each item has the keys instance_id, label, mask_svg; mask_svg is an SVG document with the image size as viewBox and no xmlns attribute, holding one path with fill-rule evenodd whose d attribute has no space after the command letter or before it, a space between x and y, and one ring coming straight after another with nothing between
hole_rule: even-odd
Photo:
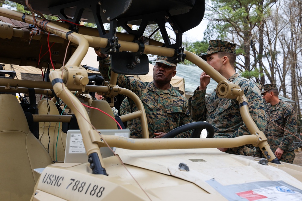
<instances>
[{"instance_id":1,"label":"camouflage uniform of the man holding his hand near his chin","mask_svg":"<svg viewBox=\"0 0 302 201\"><path fill-rule=\"evenodd\" d=\"M249 107L265 115L263 100L258 86L252 81L234 74L229 79L237 83L244 90L244 94L249 101ZM234 138L248 135L249 130L243 123L239 112L239 104L235 99L220 98L216 94L216 89L207 96L206 90L195 90L189 99L189 108L194 121L207 121L215 129L214 137ZM250 115L260 130L265 129L265 118L250 110ZM238 155L253 155L255 147L252 145L229 148L227 153Z\"/></svg>"}]
</instances>

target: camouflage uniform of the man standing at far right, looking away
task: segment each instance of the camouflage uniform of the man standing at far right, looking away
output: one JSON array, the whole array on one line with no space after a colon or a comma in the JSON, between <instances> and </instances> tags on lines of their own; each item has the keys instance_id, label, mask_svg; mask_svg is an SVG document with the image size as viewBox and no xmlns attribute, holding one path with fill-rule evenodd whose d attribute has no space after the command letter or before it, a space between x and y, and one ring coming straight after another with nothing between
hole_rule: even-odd
<instances>
[{"instance_id":1,"label":"camouflage uniform of the man standing at far right, looking away","mask_svg":"<svg viewBox=\"0 0 302 201\"><path fill-rule=\"evenodd\" d=\"M274 153L277 148L284 150L279 161L293 163L295 158L293 147L294 136L291 133L297 133L297 119L294 108L280 99L277 105L271 106L269 104L265 112L268 119L281 127L276 126L271 121L267 121L266 123L265 135L271 150Z\"/></svg>"}]
</instances>

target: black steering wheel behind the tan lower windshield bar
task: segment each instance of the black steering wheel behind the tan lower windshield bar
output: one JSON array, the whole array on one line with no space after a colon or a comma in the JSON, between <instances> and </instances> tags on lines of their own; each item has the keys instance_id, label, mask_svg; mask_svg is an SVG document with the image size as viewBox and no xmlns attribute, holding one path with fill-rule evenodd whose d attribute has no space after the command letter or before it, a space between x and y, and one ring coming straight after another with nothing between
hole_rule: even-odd
<instances>
[{"instance_id":1,"label":"black steering wheel behind the tan lower windshield bar","mask_svg":"<svg viewBox=\"0 0 302 201\"><path fill-rule=\"evenodd\" d=\"M165 134L162 138L173 138L180 133L191 129L193 129L193 131L190 138L200 138L200 134L203 129L207 129L208 134L206 138L212 138L214 136L214 127L212 126L212 124L203 121L197 121L177 127Z\"/></svg>"}]
</instances>

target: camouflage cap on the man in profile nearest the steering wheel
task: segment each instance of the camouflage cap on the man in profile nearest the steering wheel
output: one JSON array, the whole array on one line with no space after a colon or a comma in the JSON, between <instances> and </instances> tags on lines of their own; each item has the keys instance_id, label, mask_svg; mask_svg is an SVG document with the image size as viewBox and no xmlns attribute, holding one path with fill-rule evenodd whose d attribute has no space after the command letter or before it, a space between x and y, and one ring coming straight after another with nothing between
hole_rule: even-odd
<instances>
[{"instance_id":1,"label":"camouflage cap on the man in profile nearest the steering wheel","mask_svg":"<svg viewBox=\"0 0 302 201\"><path fill-rule=\"evenodd\" d=\"M236 55L236 44L223 41L223 40L210 40L209 47L207 52L204 52L200 55L205 61L207 61L206 56L209 54L213 54L215 52L231 52Z\"/></svg>"}]
</instances>

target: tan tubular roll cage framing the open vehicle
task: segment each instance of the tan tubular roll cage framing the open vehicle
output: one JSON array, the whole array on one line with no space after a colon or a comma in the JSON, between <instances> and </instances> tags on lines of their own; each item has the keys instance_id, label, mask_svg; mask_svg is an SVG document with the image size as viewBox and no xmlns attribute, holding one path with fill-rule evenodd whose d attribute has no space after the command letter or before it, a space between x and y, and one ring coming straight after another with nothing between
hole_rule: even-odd
<instances>
[{"instance_id":1,"label":"tan tubular roll cage framing the open vehicle","mask_svg":"<svg viewBox=\"0 0 302 201\"><path fill-rule=\"evenodd\" d=\"M22 21L22 13L17 11L12 11L5 8L0 8L2 16L9 17L11 19ZM33 17L31 15L25 15L24 20L27 23L33 22ZM69 61L65 66L60 68L59 71L52 71L50 73L50 80L53 85L53 90L56 95L60 97L64 102L66 102L72 111L75 111L76 118L78 119L79 128L83 136L83 143L85 145L87 155L92 152L97 152L101 161L101 165L104 167L102 162L99 146L105 146L104 140L107 141L109 146L121 147L126 149L188 149L188 148L210 148L210 147L237 147L245 144L253 144L254 146L259 146L262 152L267 157L268 161L274 160L276 157L274 153L269 148L268 143L266 142L266 137L262 131L256 126L255 122L252 120L249 114L249 108L247 104L242 104L243 102L248 102L246 97L243 94L243 90L239 88L237 84L231 83L226 80L221 74L219 74L214 68L207 64L199 56L184 51L186 54L186 59L196 64L203 71L207 72L210 77L212 77L217 83L217 93L220 97L233 98L237 99L240 106L240 114L243 119L243 122L246 124L252 135L245 135L236 138L227 138L227 139L159 139L159 140L148 140L148 139L125 139L121 137L109 137L109 136L100 136L96 130L92 129L88 114L84 106L80 103L78 99L70 92L70 90L81 90L85 93L85 90L88 86L85 85L87 79L85 78L85 72L79 67L80 62L87 53L88 47L104 48L107 46L107 39L98 37L96 31L89 32L89 28L79 27L79 33L66 33L70 30L67 29L67 25L64 23L53 22L49 20L43 20L37 18L37 26L43 30L46 30L50 33L53 33L63 39L70 40L71 42L78 45L78 48L71 56ZM85 35L84 35L85 34ZM14 34L17 35L17 34ZM119 43L120 51L130 51L137 52L139 50L139 45L133 41L133 36L130 34L120 34ZM53 37L55 38L55 37ZM150 39L150 45L145 45L145 54L153 55L163 55L172 57L175 50L171 48L162 47L162 43ZM72 70L71 70L72 69ZM7 80L5 80L7 81ZM19 80L20 81L20 80ZM117 74L114 72L111 73L111 80L106 86L96 87L95 90L101 90L103 93L110 94L112 91L117 91L124 95L129 96L137 104L139 111L130 115L121 116L123 120L128 120L130 118L135 118L140 116L141 124L143 128L143 137L148 138L148 128L146 121L146 114L143 109L142 102L137 96L126 89L120 88L116 85ZM7 82L6 82L7 83ZM1 86L6 87L18 87L14 81L10 81L9 86L3 85L0 82ZM16 86L17 85L17 86ZM67 88L67 87L68 88ZM46 87L47 88L47 87ZM51 88L49 86L49 88Z\"/></svg>"}]
</instances>

